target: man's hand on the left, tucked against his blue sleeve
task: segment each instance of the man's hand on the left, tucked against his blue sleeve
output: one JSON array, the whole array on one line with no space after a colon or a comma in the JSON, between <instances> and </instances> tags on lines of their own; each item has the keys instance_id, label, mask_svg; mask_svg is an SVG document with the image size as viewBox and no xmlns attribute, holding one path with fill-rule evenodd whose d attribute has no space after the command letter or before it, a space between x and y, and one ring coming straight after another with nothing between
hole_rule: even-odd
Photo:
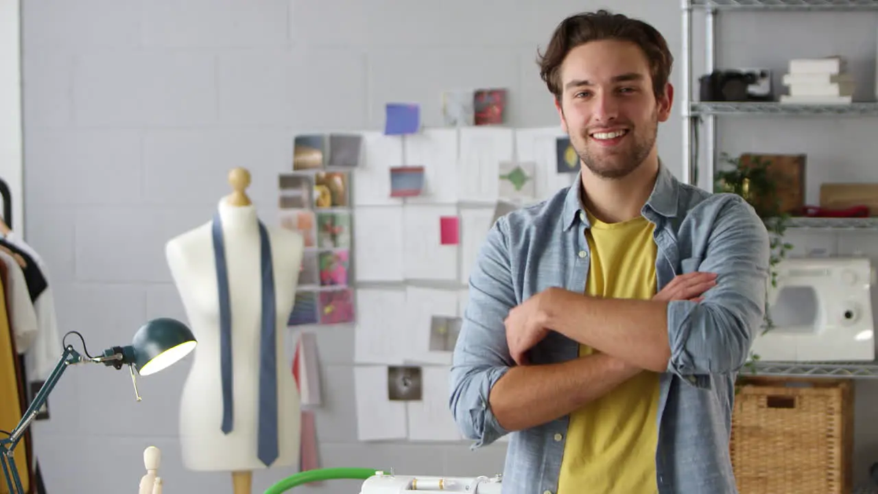
<instances>
[{"instance_id":1,"label":"man's hand on the left, tucked against his blue sleeve","mask_svg":"<svg viewBox=\"0 0 878 494\"><path fill-rule=\"evenodd\" d=\"M503 321L506 325L506 342L509 346L509 354L515 363L524 365L527 363L526 353L549 334L545 324L548 320L546 306L549 298L554 296L558 288L543 290L521 305L509 311L509 315Z\"/></svg>"}]
</instances>

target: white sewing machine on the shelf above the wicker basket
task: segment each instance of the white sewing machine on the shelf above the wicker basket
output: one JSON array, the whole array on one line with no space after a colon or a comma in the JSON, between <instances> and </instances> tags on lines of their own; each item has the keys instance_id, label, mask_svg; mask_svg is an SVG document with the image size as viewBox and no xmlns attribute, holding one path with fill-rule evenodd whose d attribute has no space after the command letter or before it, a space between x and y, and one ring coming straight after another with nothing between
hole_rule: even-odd
<instances>
[{"instance_id":1,"label":"white sewing machine on the shelf above the wicker basket","mask_svg":"<svg viewBox=\"0 0 878 494\"><path fill-rule=\"evenodd\" d=\"M774 324L753 341L761 360L874 360L869 258L788 258L768 287Z\"/></svg>"}]
</instances>

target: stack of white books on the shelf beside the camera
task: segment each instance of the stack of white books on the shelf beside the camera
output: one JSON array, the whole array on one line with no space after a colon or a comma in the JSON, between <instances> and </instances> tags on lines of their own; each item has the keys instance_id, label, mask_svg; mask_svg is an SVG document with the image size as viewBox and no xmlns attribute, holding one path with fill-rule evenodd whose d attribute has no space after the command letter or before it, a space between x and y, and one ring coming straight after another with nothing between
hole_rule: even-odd
<instances>
[{"instance_id":1,"label":"stack of white books on the shelf beside the camera","mask_svg":"<svg viewBox=\"0 0 878 494\"><path fill-rule=\"evenodd\" d=\"M781 103L795 105L844 105L853 101L855 84L844 57L797 58L789 61L783 75L789 94Z\"/></svg>"}]
</instances>

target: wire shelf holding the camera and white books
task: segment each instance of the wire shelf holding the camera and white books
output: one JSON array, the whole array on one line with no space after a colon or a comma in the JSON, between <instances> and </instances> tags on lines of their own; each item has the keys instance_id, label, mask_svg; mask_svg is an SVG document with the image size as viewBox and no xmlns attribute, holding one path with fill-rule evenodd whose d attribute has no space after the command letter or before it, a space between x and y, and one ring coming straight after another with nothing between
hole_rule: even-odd
<instances>
[{"instance_id":1,"label":"wire shelf holding the camera and white books","mask_svg":"<svg viewBox=\"0 0 878 494\"><path fill-rule=\"evenodd\" d=\"M878 103L846 103L842 105L794 105L770 102L704 102L690 106L692 115L802 115L858 116L878 115Z\"/></svg>"}]
</instances>

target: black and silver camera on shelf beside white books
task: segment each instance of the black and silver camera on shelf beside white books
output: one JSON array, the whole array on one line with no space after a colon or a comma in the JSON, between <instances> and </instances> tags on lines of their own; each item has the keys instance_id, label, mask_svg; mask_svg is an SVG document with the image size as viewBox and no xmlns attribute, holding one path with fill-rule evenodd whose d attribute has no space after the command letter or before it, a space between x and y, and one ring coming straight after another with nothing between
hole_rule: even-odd
<instances>
[{"instance_id":1,"label":"black and silver camera on shelf beside white books","mask_svg":"<svg viewBox=\"0 0 878 494\"><path fill-rule=\"evenodd\" d=\"M714 70L701 76L702 101L773 101L771 71L767 69Z\"/></svg>"}]
</instances>

